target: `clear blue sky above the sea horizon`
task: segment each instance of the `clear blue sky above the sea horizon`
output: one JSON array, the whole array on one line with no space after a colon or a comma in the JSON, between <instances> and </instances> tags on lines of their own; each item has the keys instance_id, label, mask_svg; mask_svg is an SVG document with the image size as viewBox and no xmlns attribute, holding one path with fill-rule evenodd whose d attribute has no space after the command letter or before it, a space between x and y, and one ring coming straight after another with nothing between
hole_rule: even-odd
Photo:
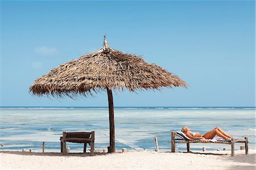
<instances>
[{"instance_id":1,"label":"clear blue sky above the sea horizon","mask_svg":"<svg viewBox=\"0 0 256 170\"><path fill-rule=\"evenodd\" d=\"M109 45L144 55L189 87L128 91L115 106L255 106L254 1L1 1L0 106L108 106L104 92L33 97L32 82Z\"/></svg>"}]
</instances>

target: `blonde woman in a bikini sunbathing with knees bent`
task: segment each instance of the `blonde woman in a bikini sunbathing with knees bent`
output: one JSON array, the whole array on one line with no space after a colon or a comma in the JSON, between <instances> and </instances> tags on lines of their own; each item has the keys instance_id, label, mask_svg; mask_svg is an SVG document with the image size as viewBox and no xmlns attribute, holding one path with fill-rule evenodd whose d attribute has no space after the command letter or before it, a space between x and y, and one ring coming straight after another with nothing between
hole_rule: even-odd
<instances>
[{"instance_id":1,"label":"blonde woman in a bikini sunbathing with knees bent","mask_svg":"<svg viewBox=\"0 0 256 170\"><path fill-rule=\"evenodd\" d=\"M220 127L214 128L212 131L207 132L204 135L199 134L199 132L192 132L190 128L184 126L181 131L191 139L213 139L215 135L224 138L225 140L230 140L233 137L224 132Z\"/></svg>"}]
</instances>

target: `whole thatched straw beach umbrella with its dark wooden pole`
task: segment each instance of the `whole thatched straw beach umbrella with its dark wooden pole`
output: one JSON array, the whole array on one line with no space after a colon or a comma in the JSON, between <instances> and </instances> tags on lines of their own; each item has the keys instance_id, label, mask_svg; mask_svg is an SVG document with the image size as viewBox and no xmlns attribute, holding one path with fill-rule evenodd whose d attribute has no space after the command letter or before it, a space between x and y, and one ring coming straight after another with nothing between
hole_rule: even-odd
<instances>
[{"instance_id":1,"label":"whole thatched straw beach umbrella with its dark wooden pole","mask_svg":"<svg viewBox=\"0 0 256 170\"><path fill-rule=\"evenodd\" d=\"M77 97L92 96L92 92L108 93L110 148L115 151L114 106L112 89L139 89L186 87L185 81L156 64L148 64L141 57L111 48L104 36L104 45L95 53L81 56L52 69L30 86L36 96Z\"/></svg>"}]
</instances>

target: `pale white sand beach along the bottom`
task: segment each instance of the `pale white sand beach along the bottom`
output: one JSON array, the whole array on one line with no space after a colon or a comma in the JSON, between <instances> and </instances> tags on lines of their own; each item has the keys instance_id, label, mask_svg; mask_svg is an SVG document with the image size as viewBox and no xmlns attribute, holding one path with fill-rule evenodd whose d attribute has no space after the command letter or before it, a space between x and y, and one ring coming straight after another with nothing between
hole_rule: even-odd
<instances>
[{"instance_id":1,"label":"pale white sand beach along the bottom","mask_svg":"<svg viewBox=\"0 0 256 170\"><path fill-rule=\"evenodd\" d=\"M126 152L115 154L0 152L1 169L256 169L255 150L214 151L229 155L168 152Z\"/></svg>"}]
</instances>

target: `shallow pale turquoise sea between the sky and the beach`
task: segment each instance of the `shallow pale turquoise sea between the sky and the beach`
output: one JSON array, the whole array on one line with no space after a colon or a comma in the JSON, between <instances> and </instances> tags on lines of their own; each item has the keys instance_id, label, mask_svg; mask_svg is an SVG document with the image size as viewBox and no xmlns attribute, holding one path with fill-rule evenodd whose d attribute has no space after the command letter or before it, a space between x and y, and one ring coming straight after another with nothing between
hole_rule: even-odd
<instances>
[{"instance_id":1,"label":"shallow pale turquoise sea between the sky and the beach","mask_svg":"<svg viewBox=\"0 0 256 170\"><path fill-rule=\"evenodd\" d=\"M109 146L107 107L0 107L0 151L60 152L63 131L95 131L96 149ZM160 151L171 150L171 131L186 125L204 134L221 127L236 138L249 137L255 149L255 107L115 107L115 147L154 151L154 136ZM71 152L82 152L82 144L67 143ZM191 144L191 150L217 150L230 145ZM236 149L239 149L237 144ZM179 145L185 151L185 144Z\"/></svg>"}]
</instances>

